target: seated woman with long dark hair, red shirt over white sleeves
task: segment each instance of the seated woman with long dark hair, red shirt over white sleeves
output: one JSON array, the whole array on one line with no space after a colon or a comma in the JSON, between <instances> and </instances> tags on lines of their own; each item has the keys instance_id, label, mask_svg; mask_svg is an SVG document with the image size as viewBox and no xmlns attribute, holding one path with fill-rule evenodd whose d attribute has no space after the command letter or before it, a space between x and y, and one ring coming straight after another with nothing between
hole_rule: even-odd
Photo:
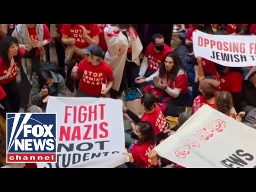
<instances>
[{"instance_id":1,"label":"seated woman with long dark hair, red shirt over white sleeves","mask_svg":"<svg viewBox=\"0 0 256 192\"><path fill-rule=\"evenodd\" d=\"M162 102L166 102L165 116L177 117L190 106L188 95L188 77L177 53L167 53L159 70L150 77L154 78L157 90L162 91ZM155 78L156 77L156 78ZM158 99L159 100L159 99Z\"/></svg>"}]
</instances>

